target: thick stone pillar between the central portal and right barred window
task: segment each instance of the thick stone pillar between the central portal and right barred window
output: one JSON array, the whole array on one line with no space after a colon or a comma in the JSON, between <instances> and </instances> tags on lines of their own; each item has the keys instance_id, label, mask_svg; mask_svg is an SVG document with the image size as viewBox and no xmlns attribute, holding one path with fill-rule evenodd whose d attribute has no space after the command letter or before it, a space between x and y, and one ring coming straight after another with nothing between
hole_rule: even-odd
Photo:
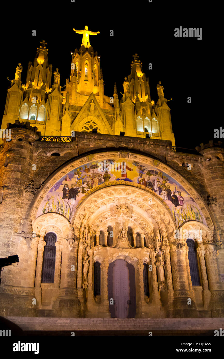
<instances>
[{"instance_id":1,"label":"thick stone pillar between the central portal and right barred window","mask_svg":"<svg viewBox=\"0 0 224 359\"><path fill-rule=\"evenodd\" d=\"M198 317L192 293L189 290L186 264L185 242L173 242L171 244L171 264L173 273L173 317L191 318ZM191 299L191 304L188 300Z\"/></svg>"}]
</instances>

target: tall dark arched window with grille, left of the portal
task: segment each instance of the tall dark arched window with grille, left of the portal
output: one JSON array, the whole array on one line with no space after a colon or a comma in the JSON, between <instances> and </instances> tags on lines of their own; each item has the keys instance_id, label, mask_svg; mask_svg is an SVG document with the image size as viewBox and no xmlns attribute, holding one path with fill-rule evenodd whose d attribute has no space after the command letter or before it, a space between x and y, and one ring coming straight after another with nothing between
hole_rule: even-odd
<instances>
[{"instance_id":1,"label":"tall dark arched window with grille, left of the portal","mask_svg":"<svg viewBox=\"0 0 224 359\"><path fill-rule=\"evenodd\" d=\"M44 257L42 266L42 283L54 283L56 234L47 233L45 236Z\"/></svg>"}]
</instances>

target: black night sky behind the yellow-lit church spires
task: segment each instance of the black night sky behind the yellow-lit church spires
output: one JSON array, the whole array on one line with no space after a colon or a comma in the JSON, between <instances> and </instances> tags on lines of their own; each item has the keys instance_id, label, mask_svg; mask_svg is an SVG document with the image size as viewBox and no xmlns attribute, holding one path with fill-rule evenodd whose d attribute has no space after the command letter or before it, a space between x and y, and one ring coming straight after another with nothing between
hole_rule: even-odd
<instances>
[{"instance_id":1,"label":"black night sky behind the yellow-lit church spires","mask_svg":"<svg viewBox=\"0 0 224 359\"><path fill-rule=\"evenodd\" d=\"M90 37L90 43L101 56L105 95L113 96L114 82L118 94L123 93L124 77L130 74L132 55L137 52L149 78L151 99L157 102L158 81L164 86L165 98L173 98L168 105L176 145L194 149L202 142L218 140L214 139L214 129L219 128L223 120L212 111L215 94L210 84L218 64L215 64L211 51L212 30L202 16L205 3L158 0L152 3L148 0L75 0L71 3L64 0L22 4L12 6L10 2L7 6L13 10L8 9L7 26L1 23L4 38L1 43L4 53L4 58L1 56L1 68L4 69L1 72L1 116L10 86L6 78L14 78L15 67L21 62L22 83L25 83L28 62L33 61L36 48L43 39L49 49L52 72L59 68L60 85L64 86L65 79L70 76L70 52L79 48L82 41L82 35L72 28L81 30L87 25L91 31L100 31L97 36ZM202 40L175 38L174 29L180 26L203 28ZM32 36L33 29L36 37ZM110 36L111 29L114 36ZM152 63L152 70L148 70L149 63ZM187 103L189 96L190 104ZM121 97L120 94L119 99Z\"/></svg>"}]
</instances>

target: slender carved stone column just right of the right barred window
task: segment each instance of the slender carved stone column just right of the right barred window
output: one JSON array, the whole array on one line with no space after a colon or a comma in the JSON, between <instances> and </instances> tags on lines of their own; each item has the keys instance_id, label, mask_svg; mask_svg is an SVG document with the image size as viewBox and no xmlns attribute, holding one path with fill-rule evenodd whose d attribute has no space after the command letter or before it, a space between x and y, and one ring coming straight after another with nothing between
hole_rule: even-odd
<instances>
[{"instance_id":1,"label":"slender carved stone column just right of the right barred window","mask_svg":"<svg viewBox=\"0 0 224 359\"><path fill-rule=\"evenodd\" d=\"M202 243L198 244L197 253L200 262L201 279L202 279L202 299L204 302L204 309L209 309L209 302L211 298L211 292L209 290L209 282L207 279L206 265L205 265L205 249Z\"/></svg>"}]
</instances>

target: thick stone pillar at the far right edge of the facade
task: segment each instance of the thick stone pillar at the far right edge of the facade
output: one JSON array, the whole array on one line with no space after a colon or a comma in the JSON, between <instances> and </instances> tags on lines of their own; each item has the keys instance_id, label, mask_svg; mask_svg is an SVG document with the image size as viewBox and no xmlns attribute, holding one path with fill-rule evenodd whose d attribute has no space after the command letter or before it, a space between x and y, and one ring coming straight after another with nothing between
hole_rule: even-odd
<instances>
[{"instance_id":1,"label":"thick stone pillar at the far right edge of the facade","mask_svg":"<svg viewBox=\"0 0 224 359\"><path fill-rule=\"evenodd\" d=\"M212 317L224 316L224 291L222 290L222 284L219 281L218 255L218 246L216 247L214 244L206 244L205 261L209 278L209 288L211 291L209 309L211 309Z\"/></svg>"}]
</instances>

